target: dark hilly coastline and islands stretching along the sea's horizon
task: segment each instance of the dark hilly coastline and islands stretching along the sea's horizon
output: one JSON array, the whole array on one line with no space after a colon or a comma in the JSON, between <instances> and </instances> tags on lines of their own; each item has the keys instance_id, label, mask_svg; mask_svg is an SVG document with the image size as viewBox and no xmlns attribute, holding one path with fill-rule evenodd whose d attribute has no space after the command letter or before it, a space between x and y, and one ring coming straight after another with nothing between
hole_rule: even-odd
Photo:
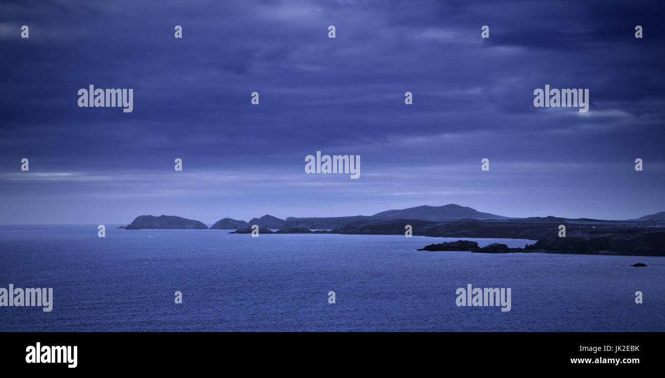
<instances>
[{"instance_id":1,"label":"dark hilly coastline and islands stretching along the sea's horizon","mask_svg":"<svg viewBox=\"0 0 665 378\"><path fill-rule=\"evenodd\" d=\"M474 242L459 240L454 242L457 244L431 244L422 250L665 256L665 219L662 219L664 217L665 212L628 221L567 219L552 216L509 218L450 204L389 210L368 216L279 219L272 215L263 215L251 219L249 223L223 218L210 229L235 229L231 233L245 234L251 233L252 225L257 225L261 234L404 235L406 225L410 225L414 236L537 240L525 248L508 248L505 244L490 244L479 248L477 243L474 245L471 244ZM558 236L559 225L565 225L567 228L566 237ZM199 221L182 217L141 215L136 217L126 229L207 229L207 226Z\"/></svg>"}]
</instances>

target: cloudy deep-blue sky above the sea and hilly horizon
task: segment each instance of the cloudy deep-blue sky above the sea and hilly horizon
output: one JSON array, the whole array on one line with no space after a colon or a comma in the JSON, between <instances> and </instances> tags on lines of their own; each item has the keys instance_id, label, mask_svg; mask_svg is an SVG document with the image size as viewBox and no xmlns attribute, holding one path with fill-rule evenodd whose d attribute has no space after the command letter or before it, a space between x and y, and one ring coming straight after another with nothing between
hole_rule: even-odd
<instances>
[{"instance_id":1,"label":"cloudy deep-blue sky above the sea and hilly horizon","mask_svg":"<svg viewBox=\"0 0 665 378\"><path fill-rule=\"evenodd\" d=\"M148 214L211 224L448 203L506 217L665 211L664 10L5 0L0 224ZM134 110L79 107L90 84L133 88ZM589 112L535 108L545 84L588 88ZM360 177L305 173L317 151L360 155Z\"/></svg>"}]
</instances>

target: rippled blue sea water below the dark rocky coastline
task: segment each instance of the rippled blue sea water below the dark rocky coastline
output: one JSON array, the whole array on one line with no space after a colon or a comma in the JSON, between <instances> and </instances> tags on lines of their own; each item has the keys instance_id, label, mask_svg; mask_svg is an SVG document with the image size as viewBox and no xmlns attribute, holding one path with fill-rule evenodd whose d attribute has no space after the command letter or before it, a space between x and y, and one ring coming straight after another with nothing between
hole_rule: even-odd
<instances>
[{"instance_id":1,"label":"rippled blue sea water below the dark rocky coastline","mask_svg":"<svg viewBox=\"0 0 665 378\"><path fill-rule=\"evenodd\" d=\"M98 238L96 225L0 226L0 287L53 288L54 297L51 312L0 307L0 331L665 331L665 258L227 232L107 225ZM456 306L467 284L511 288L511 311Z\"/></svg>"}]
</instances>

